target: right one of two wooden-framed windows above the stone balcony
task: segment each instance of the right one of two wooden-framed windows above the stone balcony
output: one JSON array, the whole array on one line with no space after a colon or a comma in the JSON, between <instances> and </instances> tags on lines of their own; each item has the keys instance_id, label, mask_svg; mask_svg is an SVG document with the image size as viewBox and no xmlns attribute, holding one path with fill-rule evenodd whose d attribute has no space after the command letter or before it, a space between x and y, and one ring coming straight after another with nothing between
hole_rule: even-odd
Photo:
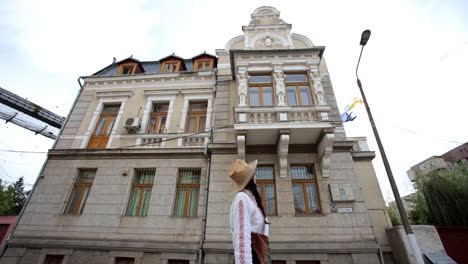
<instances>
[{"instance_id":1,"label":"right one of two wooden-framed windows above the stone balcony","mask_svg":"<svg viewBox=\"0 0 468 264\"><path fill-rule=\"evenodd\" d=\"M304 73L288 74L286 76L286 92L290 106L312 105L310 84Z\"/></svg>"}]
</instances>

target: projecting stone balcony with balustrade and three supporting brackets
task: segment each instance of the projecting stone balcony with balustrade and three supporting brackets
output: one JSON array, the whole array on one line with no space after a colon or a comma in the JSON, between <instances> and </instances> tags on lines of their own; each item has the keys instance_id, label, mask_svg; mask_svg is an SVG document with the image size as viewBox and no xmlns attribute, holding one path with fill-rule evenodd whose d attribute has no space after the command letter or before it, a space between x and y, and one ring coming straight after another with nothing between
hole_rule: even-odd
<instances>
[{"instance_id":1,"label":"projecting stone balcony with balustrade and three supporting brackets","mask_svg":"<svg viewBox=\"0 0 468 264\"><path fill-rule=\"evenodd\" d=\"M237 152L244 159L254 145L277 148L280 177L287 177L289 145L316 146L322 177L329 176L335 140L329 105L234 108Z\"/></svg>"}]
</instances>

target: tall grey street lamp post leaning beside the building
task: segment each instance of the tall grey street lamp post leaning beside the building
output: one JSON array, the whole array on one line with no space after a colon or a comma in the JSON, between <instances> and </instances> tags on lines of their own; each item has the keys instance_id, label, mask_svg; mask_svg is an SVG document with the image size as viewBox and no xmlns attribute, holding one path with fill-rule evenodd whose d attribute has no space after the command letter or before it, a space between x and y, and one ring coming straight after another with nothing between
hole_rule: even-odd
<instances>
[{"instance_id":1,"label":"tall grey street lamp post leaning beside the building","mask_svg":"<svg viewBox=\"0 0 468 264\"><path fill-rule=\"evenodd\" d=\"M364 46L367 44L367 41L370 37L370 30L364 30L361 35L361 42L360 45L361 53L359 54L359 60L356 66L356 78L357 84L359 86L359 90L361 91L362 100L364 101L364 106L366 107L367 115L369 116L369 121L372 126L372 130L374 131L375 140L377 141L377 145L379 147L380 155L382 156L382 161L385 166L385 170L387 171L388 180L390 181L390 186L392 187L393 196L395 196L395 202L398 207L398 212L400 212L401 220L403 221L403 226L405 227L406 236L408 237L408 241L410 243L411 249L413 250L413 255L416 260L417 264L424 264L421 250L419 249L418 243L416 242L416 237L414 236L413 229L408 221L408 216L406 215L405 208L403 206L403 202L401 201L400 193L398 192L398 187L395 183L395 179L393 178L392 169L390 168L390 164L388 163L387 155L385 154L384 147L382 145L382 141L380 140L379 132L377 131L377 127L375 126L374 118L372 117L372 113L370 111L369 104L367 103L366 95L364 94L364 90L362 89L361 80L359 80L358 76L358 68L359 63L361 62L362 51L364 50Z\"/></svg>"}]
</instances>

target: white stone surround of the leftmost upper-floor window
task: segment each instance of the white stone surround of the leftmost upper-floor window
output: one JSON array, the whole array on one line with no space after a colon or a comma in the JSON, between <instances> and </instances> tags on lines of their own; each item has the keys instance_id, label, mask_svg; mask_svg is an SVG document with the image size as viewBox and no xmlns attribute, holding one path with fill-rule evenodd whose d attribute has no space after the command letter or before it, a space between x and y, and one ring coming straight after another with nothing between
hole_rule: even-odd
<instances>
[{"instance_id":1,"label":"white stone surround of the leftmost upper-floor window","mask_svg":"<svg viewBox=\"0 0 468 264\"><path fill-rule=\"evenodd\" d=\"M114 139L115 135L117 134L117 128L119 127L119 121L122 117L122 114L125 109L125 105L128 102L128 99L132 96L131 91L119 91L119 92L97 92L96 96L99 98L98 105L96 110L94 110L93 117L91 118L91 122L89 122L88 129L85 132L84 140L81 142L80 148L84 149L88 147L89 140L93 134L94 128L96 127L96 123L99 119L99 116L102 113L102 109L104 109L104 105L112 104L112 103L120 103L119 112L117 114L117 118L115 119L114 127L112 128L109 141L107 142L106 148L112 145L112 140Z\"/></svg>"}]
</instances>

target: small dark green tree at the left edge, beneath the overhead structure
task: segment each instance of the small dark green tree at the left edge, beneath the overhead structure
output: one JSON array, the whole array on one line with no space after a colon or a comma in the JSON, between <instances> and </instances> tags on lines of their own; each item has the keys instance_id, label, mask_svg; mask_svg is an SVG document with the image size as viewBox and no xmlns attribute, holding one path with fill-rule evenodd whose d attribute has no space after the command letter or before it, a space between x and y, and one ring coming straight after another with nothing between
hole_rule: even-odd
<instances>
[{"instance_id":1,"label":"small dark green tree at the left edge, beneath the overhead structure","mask_svg":"<svg viewBox=\"0 0 468 264\"><path fill-rule=\"evenodd\" d=\"M0 180L0 215L18 215L28 193L24 191L23 177L9 186Z\"/></svg>"}]
</instances>

